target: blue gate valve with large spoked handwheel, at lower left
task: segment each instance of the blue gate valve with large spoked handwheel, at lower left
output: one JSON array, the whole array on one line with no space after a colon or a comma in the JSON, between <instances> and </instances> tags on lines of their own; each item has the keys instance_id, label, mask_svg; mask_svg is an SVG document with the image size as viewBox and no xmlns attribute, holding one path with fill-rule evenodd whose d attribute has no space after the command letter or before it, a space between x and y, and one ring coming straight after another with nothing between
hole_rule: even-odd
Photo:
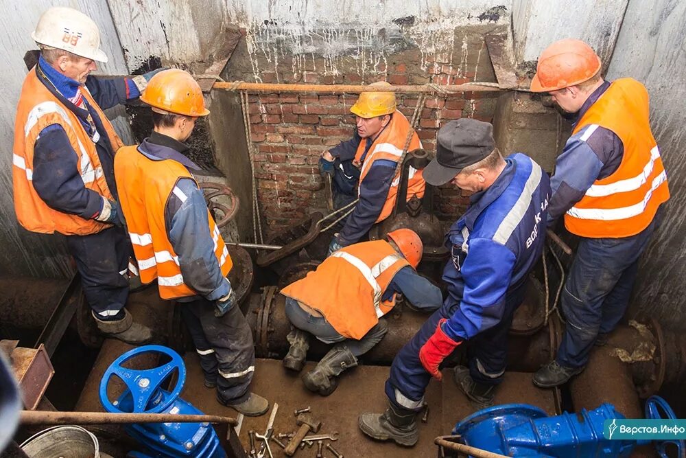
<instances>
[{"instance_id":1,"label":"blue gate valve with large spoked handwheel, at lower left","mask_svg":"<svg viewBox=\"0 0 686 458\"><path fill-rule=\"evenodd\" d=\"M152 369L138 370L124 367L124 363L138 356L164 355L168 363ZM167 391L162 385L173 374L178 374L174 389ZM114 402L110 401L107 387L110 380L119 378L126 388ZM145 345L130 350L115 359L100 380L100 402L113 413L171 413L174 415L202 415L192 404L179 398L186 381L186 367L178 353L161 345ZM147 452L129 456L177 458L226 458L217 433L209 423L137 423L124 426L126 432L147 448Z\"/></svg>"}]
</instances>

